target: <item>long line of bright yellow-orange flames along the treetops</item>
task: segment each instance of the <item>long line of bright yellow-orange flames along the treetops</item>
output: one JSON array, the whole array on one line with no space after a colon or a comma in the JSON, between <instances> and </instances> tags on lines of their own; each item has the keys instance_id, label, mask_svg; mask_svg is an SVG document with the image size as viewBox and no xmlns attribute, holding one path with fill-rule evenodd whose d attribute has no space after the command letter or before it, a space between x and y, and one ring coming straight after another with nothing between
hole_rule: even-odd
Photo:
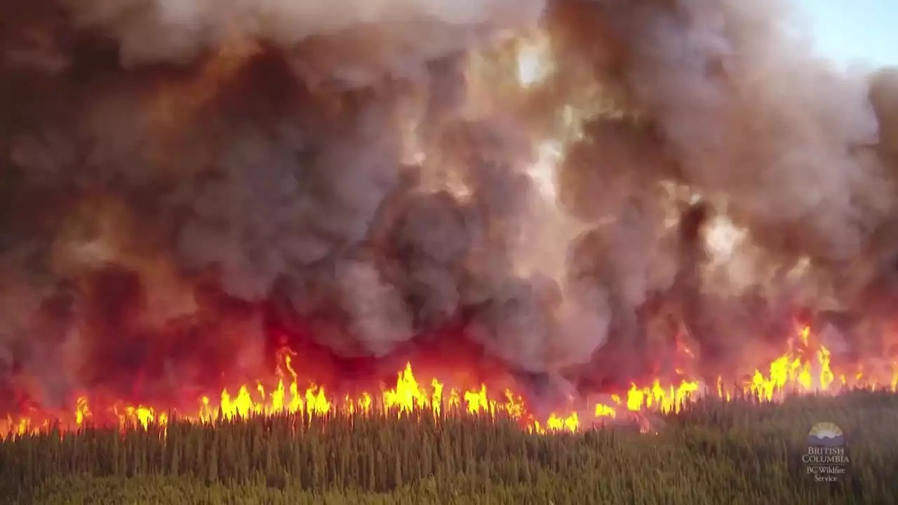
<instances>
[{"instance_id":1,"label":"long line of bright yellow-orange flames along the treetops","mask_svg":"<svg viewBox=\"0 0 898 505\"><path fill-rule=\"evenodd\" d=\"M221 392L217 402L208 396L199 398L195 412L178 412L179 419L193 422L216 422L218 420L245 419L251 416L292 414L309 418L327 419L330 415L370 415L383 412L402 416L409 413L430 412L440 416L445 413L461 413L493 417L503 414L520 421L525 429L536 433L557 431L576 432L587 425L627 419L628 415L639 412L679 412L684 403L702 394L716 394L729 400L733 394L748 394L762 402L779 401L787 394L824 393L838 391L842 386L888 387L893 391L898 387L898 368L892 368L888 385L865 380L863 373L849 376L840 375L836 380L830 362L831 353L822 344L811 339L810 328L802 328L789 341L786 353L775 359L766 373L756 370L750 381L737 388L724 385L718 378L716 388L709 388L697 380L681 378L664 384L660 378L651 385L632 385L626 394L612 394L606 402L595 402L588 410L572 409L569 412L554 412L547 419L535 419L527 409L524 398L511 390L494 394L487 385L462 390L447 387L436 378L420 382L408 363L396 378L395 385L373 393L356 396L345 395L335 398L323 385L303 386L301 377L292 365L293 355L289 351L281 354L282 366L277 368L277 385L266 390L262 383L242 385L232 394L227 389ZM682 370L678 370L682 373ZM741 391L738 390L741 388ZM169 412L146 405L114 406L108 413L117 418L119 425L149 427L151 424L166 426ZM37 414L37 412L35 412ZM75 403L75 426L83 426L96 418L87 396L79 397ZM20 419L7 418L0 423L0 430L7 435L26 434L47 430L51 423L65 421L66 415L31 415Z\"/></svg>"}]
</instances>

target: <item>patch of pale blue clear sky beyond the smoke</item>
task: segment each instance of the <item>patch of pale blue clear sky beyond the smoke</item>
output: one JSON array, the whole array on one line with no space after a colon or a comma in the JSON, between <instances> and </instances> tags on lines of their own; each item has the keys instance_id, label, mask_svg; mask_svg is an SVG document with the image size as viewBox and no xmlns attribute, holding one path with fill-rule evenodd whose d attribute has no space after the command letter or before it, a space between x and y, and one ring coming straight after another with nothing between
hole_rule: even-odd
<instances>
[{"instance_id":1,"label":"patch of pale blue clear sky beyond the smoke","mask_svg":"<svg viewBox=\"0 0 898 505\"><path fill-rule=\"evenodd\" d=\"M842 64L898 65L898 0L792 0L820 54Z\"/></svg>"}]
</instances>

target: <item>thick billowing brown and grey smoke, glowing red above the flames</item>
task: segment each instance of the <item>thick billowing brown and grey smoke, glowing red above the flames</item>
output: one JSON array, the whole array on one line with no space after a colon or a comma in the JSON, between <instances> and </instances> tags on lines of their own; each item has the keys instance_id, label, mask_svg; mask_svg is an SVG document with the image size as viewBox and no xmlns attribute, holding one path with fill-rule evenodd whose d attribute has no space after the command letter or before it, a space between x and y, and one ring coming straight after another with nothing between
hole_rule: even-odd
<instances>
[{"instance_id":1,"label":"thick billowing brown and grey smoke, glowing red above the flames","mask_svg":"<svg viewBox=\"0 0 898 505\"><path fill-rule=\"evenodd\" d=\"M799 308L885 328L898 80L814 58L786 7L17 6L0 387L173 397L286 344L314 380L430 355L586 392L682 341L753 369Z\"/></svg>"}]
</instances>

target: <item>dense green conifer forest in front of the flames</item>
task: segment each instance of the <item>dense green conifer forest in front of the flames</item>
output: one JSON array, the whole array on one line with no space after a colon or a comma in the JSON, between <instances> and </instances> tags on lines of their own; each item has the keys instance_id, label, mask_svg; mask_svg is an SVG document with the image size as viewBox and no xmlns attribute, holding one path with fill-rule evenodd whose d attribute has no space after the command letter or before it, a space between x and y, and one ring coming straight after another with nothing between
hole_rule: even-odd
<instances>
[{"instance_id":1,"label":"dense green conifer forest in front of the flames","mask_svg":"<svg viewBox=\"0 0 898 505\"><path fill-rule=\"evenodd\" d=\"M0 495L62 504L889 504L898 496L898 396L855 391L691 403L651 432L528 433L445 414L265 417L0 442ZM850 456L815 482L808 430L835 423Z\"/></svg>"}]
</instances>

